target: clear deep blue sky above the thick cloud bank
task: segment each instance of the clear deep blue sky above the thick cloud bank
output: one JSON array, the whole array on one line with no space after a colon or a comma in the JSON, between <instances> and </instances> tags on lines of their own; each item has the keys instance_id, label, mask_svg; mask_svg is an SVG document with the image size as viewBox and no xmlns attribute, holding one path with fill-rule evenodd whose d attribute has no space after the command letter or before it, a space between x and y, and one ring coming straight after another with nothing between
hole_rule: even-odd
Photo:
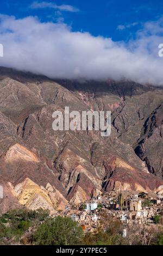
<instances>
[{"instance_id":1,"label":"clear deep blue sky above the thick cloud bank","mask_svg":"<svg viewBox=\"0 0 163 256\"><path fill-rule=\"evenodd\" d=\"M163 15L160 0L44 0L57 5L72 5L79 11L60 11L54 8L30 8L34 1L7 0L1 4L1 14L14 15L17 19L38 16L43 22L64 20L73 31L90 32L92 35L129 40L142 27L142 23L159 19ZM117 29L117 27L119 29Z\"/></svg>"}]
</instances>

